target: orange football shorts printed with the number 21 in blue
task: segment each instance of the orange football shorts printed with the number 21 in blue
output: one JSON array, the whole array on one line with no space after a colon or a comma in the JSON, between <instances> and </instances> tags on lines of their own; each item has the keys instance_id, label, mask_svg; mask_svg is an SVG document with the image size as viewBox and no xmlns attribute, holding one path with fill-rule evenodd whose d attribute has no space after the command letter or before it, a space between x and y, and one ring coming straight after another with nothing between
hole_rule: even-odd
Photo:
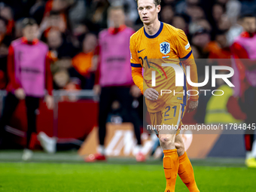
<instances>
[{"instance_id":1,"label":"orange football shorts printed with the number 21 in blue","mask_svg":"<svg viewBox=\"0 0 256 192\"><path fill-rule=\"evenodd\" d=\"M149 113L151 118L151 124L154 127L157 125L170 125L178 128L176 135L180 133L182 117L184 116L184 112L186 109L186 105L181 103L172 103L169 105L165 105L162 111L158 111L156 113Z\"/></svg>"}]
</instances>

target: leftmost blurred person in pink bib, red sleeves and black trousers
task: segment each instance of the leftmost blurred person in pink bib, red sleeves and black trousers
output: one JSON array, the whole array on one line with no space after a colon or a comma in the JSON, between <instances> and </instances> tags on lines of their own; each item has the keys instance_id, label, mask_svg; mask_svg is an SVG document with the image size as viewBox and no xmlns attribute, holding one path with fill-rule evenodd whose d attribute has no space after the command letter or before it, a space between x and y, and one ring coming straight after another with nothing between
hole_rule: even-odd
<instances>
[{"instance_id":1,"label":"leftmost blurred person in pink bib, red sleeves and black trousers","mask_svg":"<svg viewBox=\"0 0 256 192\"><path fill-rule=\"evenodd\" d=\"M4 138L5 125L11 119L20 100L25 99L28 130L23 160L32 158L32 140L36 139L36 109L43 98L47 108L53 108L53 81L48 47L36 38L38 25L32 18L23 20L23 38L12 41L8 53L8 96L0 120L0 136ZM45 90L47 94L45 95ZM0 140L2 140L0 139Z\"/></svg>"}]
</instances>

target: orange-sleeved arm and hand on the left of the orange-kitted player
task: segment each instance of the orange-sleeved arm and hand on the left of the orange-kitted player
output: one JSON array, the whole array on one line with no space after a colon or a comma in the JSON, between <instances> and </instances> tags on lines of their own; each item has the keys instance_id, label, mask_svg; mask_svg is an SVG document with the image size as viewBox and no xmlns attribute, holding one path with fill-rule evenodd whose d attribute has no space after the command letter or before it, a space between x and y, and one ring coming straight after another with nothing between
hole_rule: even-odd
<instances>
[{"instance_id":1,"label":"orange-sleeved arm and hand on the left of the orange-kitted player","mask_svg":"<svg viewBox=\"0 0 256 192\"><path fill-rule=\"evenodd\" d=\"M153 88L149 88L147 84L145 84L143 75L142 75L142 64L139 61L139 57L136 53L136 41L133 37L133 35L130 38L130 63L132 66L132 76L133 76L133 82L136 84L137 87L141 90L142 94L147 99L154 100L158 98L159 93L157 93L157 90L154 90Z\"/></svg>"}]
</instances>

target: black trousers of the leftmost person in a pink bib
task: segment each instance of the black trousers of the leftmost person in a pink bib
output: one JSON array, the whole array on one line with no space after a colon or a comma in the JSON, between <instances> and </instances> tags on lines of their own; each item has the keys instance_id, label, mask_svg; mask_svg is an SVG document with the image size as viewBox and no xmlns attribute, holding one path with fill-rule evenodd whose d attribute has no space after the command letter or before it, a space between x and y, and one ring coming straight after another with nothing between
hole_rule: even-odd
<instances>
[{"instance_id":1,"label":"black trousers of the leftmost person in a pink bib","mask_svg":"<svg viewBox=\"0 0 256 192\"><path fill-rule=\"evenodd\" d=\"M5 98L5 104L2 111L2 117L0 119L0 137L5 134L5 126L11 120L11 116L14 113L20 100L12 93L8 93ZM36 113L35 110L39 107L39 98L26 96L26 112L28 120L28 130L26 132L26 148L29 148L29 143L32 133L36 133Z\"/></svg>"}]
</instances>

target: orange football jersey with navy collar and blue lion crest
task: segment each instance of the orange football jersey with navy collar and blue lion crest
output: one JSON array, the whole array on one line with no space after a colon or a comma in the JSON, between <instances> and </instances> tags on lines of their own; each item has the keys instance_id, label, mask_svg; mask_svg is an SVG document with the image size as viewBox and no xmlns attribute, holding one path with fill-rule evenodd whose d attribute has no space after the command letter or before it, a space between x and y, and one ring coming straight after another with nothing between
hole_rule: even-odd
<instances>
[{"instance_id":1,"label":"orange football jersey with navy collar and blue lion crest","mask_svg":"<svg viewBox=\"0 0 256 192\"><path fill-rule=\"evenodd\" d=\"M159 95L154 101L146 99L149 112L161 111L164 105L172 102L187 105L187 81L184 69L186 65L190 65L191 81L197 83L197 66L187 36L181 29L160 23L158 32L155 35L148 35L142 27L130 38L130 52L133 81L142 93L147 88L154 88L159 94L161 90L172 91ZM185 59L190 61L184 62ZM184 72L183 87L175 86L174 69L162 66L163 63L172 63L181 67ZM152 86L152 71L155 74L155 86ZM197 87L190 88L197 90ZM197 101L198 96L190 96L190 99Z\"/></svg>"}]
</instances>

